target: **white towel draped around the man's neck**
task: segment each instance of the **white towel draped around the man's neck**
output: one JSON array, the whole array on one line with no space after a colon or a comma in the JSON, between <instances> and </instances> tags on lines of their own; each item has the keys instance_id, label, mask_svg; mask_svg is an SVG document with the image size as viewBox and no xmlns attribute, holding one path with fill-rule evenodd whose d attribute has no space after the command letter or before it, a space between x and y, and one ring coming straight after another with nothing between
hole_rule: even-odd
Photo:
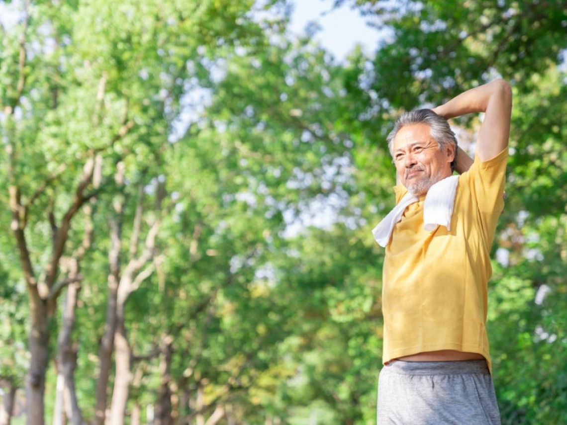
<instances>
[{"instance_id":1,"label":"white towel draped around the man's neck","mask_svg":"<svg viewBox=\"0 0 567 425\"><path fill-rule=\"evenodd\" d=\"M459 176L450 176L438 181L429 188L424 204L425 230L433 231L438 226L445 226L448 231L451 230L451 216L455 206L455 193L458 182ZM406 193L401 198L400 203L372 230L374 239L376 239L380 247L386 247L390 243L393 227L401 220L401 216L408 205L418 200L417 196Z\"/></svg>"}]
</instances>

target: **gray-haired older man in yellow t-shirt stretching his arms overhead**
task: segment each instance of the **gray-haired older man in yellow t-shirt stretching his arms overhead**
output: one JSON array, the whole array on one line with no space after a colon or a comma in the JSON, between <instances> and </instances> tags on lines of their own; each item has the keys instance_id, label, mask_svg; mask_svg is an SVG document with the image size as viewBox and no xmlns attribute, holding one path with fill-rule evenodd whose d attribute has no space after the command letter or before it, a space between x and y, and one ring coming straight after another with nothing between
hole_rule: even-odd
<instances>
[{"instance_id":1,"label":"gray-haired older man in yellow t-shirt stretching his arms overhead","mask_svg":"<svg viewBox=\"0 0 567 425\"><path fill-rule=\"evenodd\" d=\"M388 136L398 211L375 229L386 246L380 425L500 424L485 323L510 111L510 86L495 80L403 114ZM485 116L473 161L446 120L474 112Z\"/></svg>"}]
</instances>

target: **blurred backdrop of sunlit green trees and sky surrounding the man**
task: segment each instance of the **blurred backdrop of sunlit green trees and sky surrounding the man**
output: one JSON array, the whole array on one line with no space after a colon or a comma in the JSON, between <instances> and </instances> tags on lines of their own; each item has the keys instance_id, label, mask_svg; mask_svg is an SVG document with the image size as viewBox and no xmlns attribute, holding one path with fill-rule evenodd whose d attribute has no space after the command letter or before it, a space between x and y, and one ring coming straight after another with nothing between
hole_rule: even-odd
<instances>
[{"instance_id":1,"label":"blurred backdrop of sunlit green trees and sky surrounding the man","mask_svg":"<svg viewBox=\"0 0 567 425\"><path fill-rule=\"evenodd\" d=\"M564 6L0 1L0 424L374 424L386 134L499 77L498 404L567 423Z\"/></svg>"}]
</instances>

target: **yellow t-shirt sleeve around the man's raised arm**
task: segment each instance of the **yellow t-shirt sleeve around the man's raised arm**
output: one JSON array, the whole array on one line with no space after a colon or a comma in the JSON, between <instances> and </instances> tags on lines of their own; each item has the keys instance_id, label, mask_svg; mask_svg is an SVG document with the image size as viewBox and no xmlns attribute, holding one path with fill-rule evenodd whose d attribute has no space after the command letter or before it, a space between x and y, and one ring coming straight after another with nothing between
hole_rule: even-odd
<instances>
[{"instance_id":1,"label":"yellow t-shirt sleeve around the man's raised arm","mask_svg":"<svg viewBox=\"0 0 567 425\"><path fill-rule=\"evenodd\" d=\"M498 217L504 208L504 184L508 147L488 161L481 161L475 155L471 168L462 174L459 184L464 184L475 201L486 237L492 243Z\"/></svg>"}]
</instances>

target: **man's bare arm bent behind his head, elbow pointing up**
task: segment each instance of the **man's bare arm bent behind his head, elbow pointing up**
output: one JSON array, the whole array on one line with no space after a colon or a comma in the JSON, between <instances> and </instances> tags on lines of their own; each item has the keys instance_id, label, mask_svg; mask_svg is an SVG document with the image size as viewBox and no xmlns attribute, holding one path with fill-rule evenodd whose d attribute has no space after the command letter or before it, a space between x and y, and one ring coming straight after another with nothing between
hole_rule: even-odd
<instances>
[{"instance_id":1,"label":"man's bare arm bent behind his head, elbow pointing up","mask_svg":"<svg viewBox=\"0 0 567 425\"><path fill-rule=\"evenodd\" d=\"M498 79L472 88L434 108L433 111L447 119L473 112L484 112L484 121L480 126L476 144L476 155L484 162L494 158L508 146L511 109L510 85ZM461 172L459 169L457 171Z\"/></svg>"}]
</instances>

